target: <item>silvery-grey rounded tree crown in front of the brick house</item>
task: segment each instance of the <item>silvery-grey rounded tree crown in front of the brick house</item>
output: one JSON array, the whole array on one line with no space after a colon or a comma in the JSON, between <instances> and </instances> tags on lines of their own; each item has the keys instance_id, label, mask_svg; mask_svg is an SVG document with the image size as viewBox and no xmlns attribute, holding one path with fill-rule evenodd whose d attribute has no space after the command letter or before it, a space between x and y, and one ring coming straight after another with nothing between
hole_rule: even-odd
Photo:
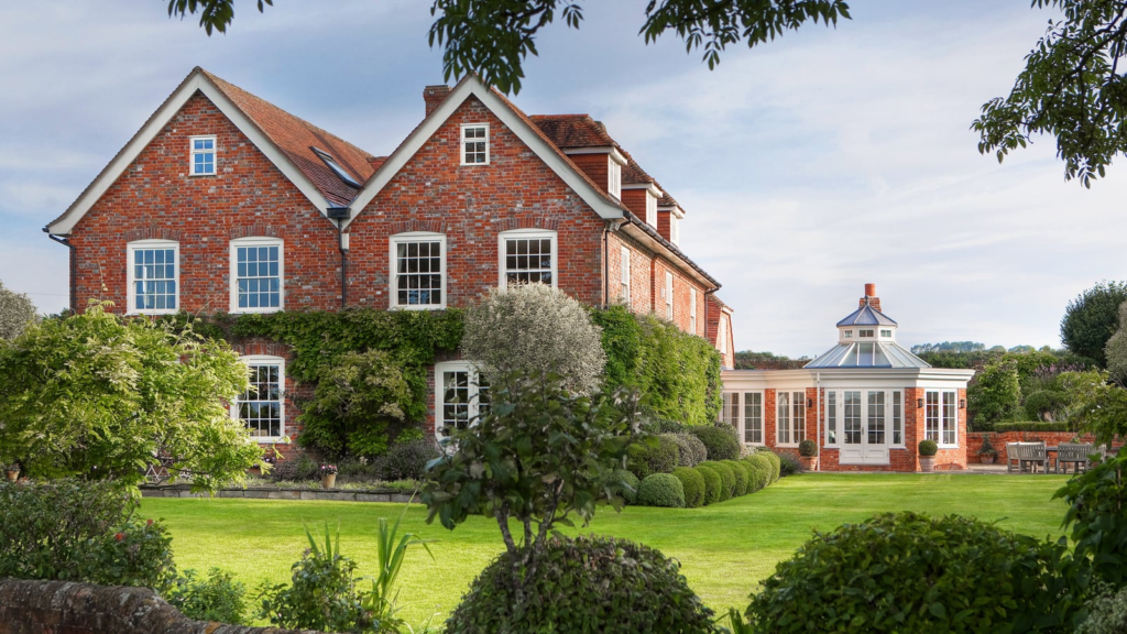
<instances>
[{"instance_id":1,"label":"silvery-grey rounded tree crown in front of the brick house","mask_svg":"<svg viewBox=\"0 0 1127 634\"><path fill-rule=\"evenodd\" d=\"M577 393L593 390L606 364L601 329L587 310L548 284L490 289L465 311L462 355L490 384L514 373L551 372L565 389Z\"/></svg>"}]
</instances>

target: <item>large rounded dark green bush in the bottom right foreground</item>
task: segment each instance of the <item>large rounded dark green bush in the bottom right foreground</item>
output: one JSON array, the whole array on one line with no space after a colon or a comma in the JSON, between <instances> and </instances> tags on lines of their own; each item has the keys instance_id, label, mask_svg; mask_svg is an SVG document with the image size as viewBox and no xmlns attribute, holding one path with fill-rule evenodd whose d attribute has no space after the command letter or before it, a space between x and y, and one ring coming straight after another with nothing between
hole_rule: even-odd
<instances>
[{"instance_id":1,"label":"large rounded dark green bush in the bottom right foreground","mask_svg":"<svg viewBox=\"0 0 1127 634\"><path fill-rule=\"evenodd\" d=\"M818 534L752 598L755 632L1067 629L1066 546L977 520L886 513Z\"/></svg>"}]
</instances>

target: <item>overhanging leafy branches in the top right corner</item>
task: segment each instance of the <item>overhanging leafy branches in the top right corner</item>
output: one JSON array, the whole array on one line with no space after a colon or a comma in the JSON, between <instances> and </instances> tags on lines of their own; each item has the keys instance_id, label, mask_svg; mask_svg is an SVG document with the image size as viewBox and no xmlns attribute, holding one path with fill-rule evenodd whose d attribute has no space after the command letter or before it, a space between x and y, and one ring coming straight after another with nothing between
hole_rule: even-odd
<instances>
[{"instance_id":1,"label":"overhanging leafy branches in the top right corner","mask_svg":"<svg viewBox=\"0 0 1127 634\"><path fill-rule=\"evenodd\" d=\"M982 107L971 127L978 151L999 162L1035 134L1056 137L1065 178L1090 187L1116 155L1127 153L1127 2L1033 0L1059 9L1026 56L1010 96ZM1122 65L1120 65L1122 63Z\"/></svg>"}]
</instances>

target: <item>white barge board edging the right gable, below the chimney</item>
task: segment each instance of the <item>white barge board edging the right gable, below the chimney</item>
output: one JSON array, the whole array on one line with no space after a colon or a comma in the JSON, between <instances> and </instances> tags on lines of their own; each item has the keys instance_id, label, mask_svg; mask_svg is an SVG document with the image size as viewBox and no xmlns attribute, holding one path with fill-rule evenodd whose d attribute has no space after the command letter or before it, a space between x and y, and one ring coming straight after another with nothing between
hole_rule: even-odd
<instances>
[{"instance_id":1,"label":"white barge board edging the right gable, below the chimney","mask_svg":"<svg viewBox=\"0 0 1127 634\"><path fill-rule=\"evenodd\" d=\"M396 174L407 165L407 161L415 156L415 152L419 149L438 131L440 127L446 120L449 120L455 111L468 99L470 96L477 97L489 111L500 120L514 134L532 151L536 157L544 161L544 164L556 173L560 179L567 184L575 193L579 194L583 202L587 203L592 209L595 210L601 218L613 220L622 218L622 208L613 203L609 197L606 197L602 192L596 190L587 182L586 178L576 171L576 168L570 161L559 156L554 148L549 146L548 141L543 139L536 131L525 123L520 115L517 115L513 109L503 102L488 86L482 83L480 79L476 76L467 76L450 91L446 99L440 105L434 112L427 116L415 132L411 133L402 143L396 148L396 151L388 157L388 160L380 166L380 169L375 170L372 178L364 184L364 188L360 191L353 202L348 205L353 210L352 218L345 222L345 227L352 223L356 217L363 212L367 203L372 202L384 186L394 178ZM456 158L456 157L455 157Z\"/></svg>"}]
</instances>

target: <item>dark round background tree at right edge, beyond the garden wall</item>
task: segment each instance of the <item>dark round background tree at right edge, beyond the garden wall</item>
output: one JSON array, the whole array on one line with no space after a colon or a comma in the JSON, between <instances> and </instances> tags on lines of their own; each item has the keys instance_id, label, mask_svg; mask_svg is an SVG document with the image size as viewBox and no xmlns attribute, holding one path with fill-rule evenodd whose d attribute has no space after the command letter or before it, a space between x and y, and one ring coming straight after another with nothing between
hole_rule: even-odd
<instances>
[{"instance_id":1,"label":"dark round background tree at right edge, beyond the garden wall","mask_svg":"<svg viewBox=\"0 0 1127 634\"><path fill-rule=\"evenodd\" d=\"M1124 301L1127 301L1127 282L1103 281L1076 296L1061 319L1061 341L1065 347L1106 368L1104 349L1119 327L1118 311Z\"/></svg>"}]
</instances>

